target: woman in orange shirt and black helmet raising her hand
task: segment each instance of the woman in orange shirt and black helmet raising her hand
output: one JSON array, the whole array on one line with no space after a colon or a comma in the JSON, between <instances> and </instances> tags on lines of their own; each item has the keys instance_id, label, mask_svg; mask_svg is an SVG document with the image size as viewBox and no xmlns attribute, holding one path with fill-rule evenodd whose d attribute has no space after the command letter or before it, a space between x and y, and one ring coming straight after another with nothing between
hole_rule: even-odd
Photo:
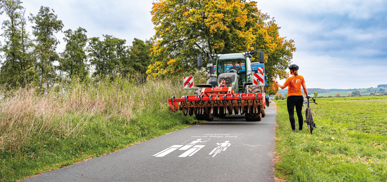
<instances>
[{"instance_id":1,"label":"woman in orange shirt and black helmet raising her hand","mask_svg":"<svg viewBox=\"0 0 387 182\"><path fill-rule=\"evenodd\" d=\"M298 75L298 66L296 64L291 64L289 66L289 70L292 76L286 79L284 84L278 83L278 81L274 77L272 77L272 79L279 88L284 89L288 87L288 98L286 99L287 100L286 103L288 105L289 120L290 120L291 129L294 132L297 132L298 130L302 130L302 124L303 124L302 104L303 104L304 98L302 96L301 86L304 89L304 93L306 94L306 96L309 97L309 95L308 95L307 86L305 85L304 77L301 75ZM296 130L296 125L295 125L294 107L296 107L298 125L300 125L300 128L298 130Z\"/></svg>"}]
</instances>

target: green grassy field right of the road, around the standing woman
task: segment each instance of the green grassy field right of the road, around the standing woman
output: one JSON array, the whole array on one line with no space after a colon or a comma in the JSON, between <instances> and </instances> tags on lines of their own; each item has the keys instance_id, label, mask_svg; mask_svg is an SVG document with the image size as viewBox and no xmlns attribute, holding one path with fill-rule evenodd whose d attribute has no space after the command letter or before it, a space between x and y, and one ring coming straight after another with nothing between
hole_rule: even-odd
<instances>
[{"instance_id":1,"label":"green grassy field right of the road, around the standing woman","mask_svg":"<svg viewBox=\"0 0 387 182\"><path fill-rule=\"evenodd\" d=\"M318 126L313 135L306 125L291 132L286 101L275 101L277 177L289 182L387 181L387 101L337 99L311 104Z\"/></svg>"}]
</instances>

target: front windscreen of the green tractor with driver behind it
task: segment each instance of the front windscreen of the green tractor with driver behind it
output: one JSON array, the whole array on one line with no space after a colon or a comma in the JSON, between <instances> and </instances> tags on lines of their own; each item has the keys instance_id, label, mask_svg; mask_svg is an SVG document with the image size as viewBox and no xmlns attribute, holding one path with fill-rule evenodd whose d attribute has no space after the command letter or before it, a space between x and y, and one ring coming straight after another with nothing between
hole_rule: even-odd
<instances>
[{"instance_id":1,"label":"front windscreen of the green tractor with driver behind it","mask_svg":"<svg viewBox=\"0 0 387 182\"><path fill-rule=\"evenodd\" d=\"M245 61L245 56L243 56L241 53L223 54L218 59L218 73L221 74L224 72L230 72L230 70L233 68L233 70L238 71L238 73L246 72Z\"/></svg>"}]
</instances>

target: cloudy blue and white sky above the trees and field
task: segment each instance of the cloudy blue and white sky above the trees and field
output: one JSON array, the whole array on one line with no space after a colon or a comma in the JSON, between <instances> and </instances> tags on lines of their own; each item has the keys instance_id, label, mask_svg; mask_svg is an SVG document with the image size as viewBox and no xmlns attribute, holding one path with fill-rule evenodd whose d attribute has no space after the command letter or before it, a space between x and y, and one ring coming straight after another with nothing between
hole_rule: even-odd
<instances>
[{"instance_id":1,"label":"cloudy blue and white sky above the trees and field","mask_svg":"<svg viewBox=\"0 0 387 182\"><path fill-rule=\"evenodd\" d=\"M55 10L64 29L126 39L154 34L152 0L22 0L27 13ZM293 64L308 88L369 88L387 84L387 2L382 0L258 1L274 17L280 35L295 40ZM3 21L5 16L1 16ZM57 35L62 39L63 34ZM63 42L63 41L62 41ZM60 44L57 51L62 51Z\"/></svg>"}]
</instances>

